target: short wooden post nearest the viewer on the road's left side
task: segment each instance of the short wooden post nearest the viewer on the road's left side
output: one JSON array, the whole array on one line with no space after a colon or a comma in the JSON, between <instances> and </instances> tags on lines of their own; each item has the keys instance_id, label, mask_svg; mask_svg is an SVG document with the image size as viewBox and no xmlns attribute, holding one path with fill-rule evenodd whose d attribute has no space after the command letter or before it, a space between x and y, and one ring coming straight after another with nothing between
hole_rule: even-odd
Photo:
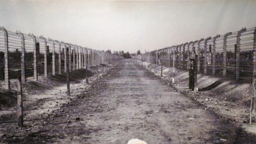
<instances>
[{"instance_id":1,"label":"short wooden post nearest the viewer on the road's left side","mask_svg":"<svg viewBox=\"0 0 256 144\"><path fill-rule=\"evenodd\" d=\"M17 79L17 117L18 126L23 127L23 105L22 105L22 83L21 77Z\"/></svg>"}]
</instances>

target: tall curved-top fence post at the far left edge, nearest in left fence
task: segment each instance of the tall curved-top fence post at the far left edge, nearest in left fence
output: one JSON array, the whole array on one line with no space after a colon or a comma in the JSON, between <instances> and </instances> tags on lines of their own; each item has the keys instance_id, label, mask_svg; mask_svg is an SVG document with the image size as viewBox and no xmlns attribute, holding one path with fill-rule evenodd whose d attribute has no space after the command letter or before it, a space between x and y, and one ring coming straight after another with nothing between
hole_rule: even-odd
<instances>
[{"instance_id":1,"label":"tall curved-top fence post at the far left edge, nearest in left fence","mask_svg":"<svg viewBox=\"0 0 256 144\"><path fill-rule=\"evenodd\" d=\"M9 79L9 52L8 52L8 33L4 27L0 27L0 30L4 33L4 83L5 89L10 90Z\"/></svg>"}]
</instances>

